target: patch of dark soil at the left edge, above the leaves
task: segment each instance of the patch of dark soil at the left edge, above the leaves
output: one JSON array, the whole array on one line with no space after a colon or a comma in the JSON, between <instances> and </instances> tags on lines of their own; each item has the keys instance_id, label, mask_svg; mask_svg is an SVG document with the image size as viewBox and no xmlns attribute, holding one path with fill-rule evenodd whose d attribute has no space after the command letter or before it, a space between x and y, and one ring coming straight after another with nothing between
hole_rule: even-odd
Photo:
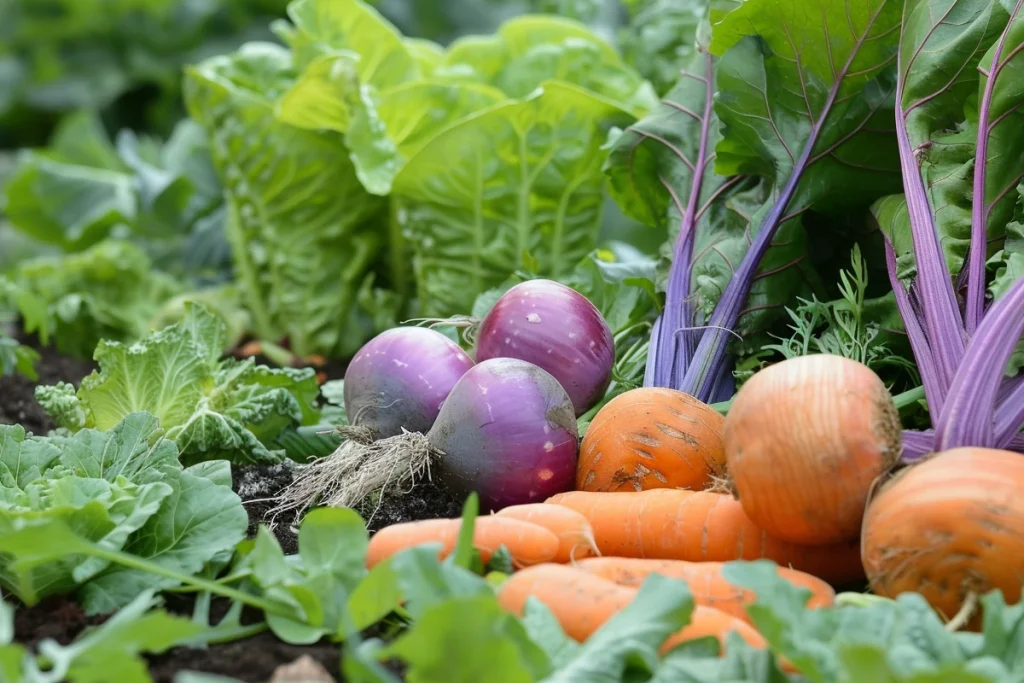
<instances>
[{"instance_id":1,"label":"patch of dark soil at the left edge, above the leaves","mask_svg":"<svg viewBox=\"0 0 1024 683\"><path fill-rule=\"evenodd\" d=\"M20 375L0 377L0 425L22 425L27 432L45 434L55 425L36 402L36 386L57 382L78 386L83 377L95 370L96 365L86 358L74 358L53 348L42 347L34 337L19 334L16 338L39 351L41 357L36 364L39 380L33 382Z\"/></svg>"}]
</instances>

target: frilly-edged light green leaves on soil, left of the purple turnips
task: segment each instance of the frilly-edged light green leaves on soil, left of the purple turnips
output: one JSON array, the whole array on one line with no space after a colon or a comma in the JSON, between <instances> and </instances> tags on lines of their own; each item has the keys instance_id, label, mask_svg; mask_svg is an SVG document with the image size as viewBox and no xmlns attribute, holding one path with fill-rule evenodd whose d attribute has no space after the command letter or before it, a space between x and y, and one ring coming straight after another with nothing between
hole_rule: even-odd
<instances>
[{"instance_id":1,"label":"frilly-edged light green leaves on soil, left of the purple turnips","mask_svg":"<svg viewBox=\"0 0 1024 683\"><path fill-rule=\"evenodd\" d=\"M220 359L223 322L198 304L186 303L185 311L180 323L135 344L100 342L99 369L78 391L66 383L38 387L39 402L71 432L106 430L131 413L151 413L187 464L280 462L276 436L317 419L314 371Z\"/></svg>"}]
</instances>

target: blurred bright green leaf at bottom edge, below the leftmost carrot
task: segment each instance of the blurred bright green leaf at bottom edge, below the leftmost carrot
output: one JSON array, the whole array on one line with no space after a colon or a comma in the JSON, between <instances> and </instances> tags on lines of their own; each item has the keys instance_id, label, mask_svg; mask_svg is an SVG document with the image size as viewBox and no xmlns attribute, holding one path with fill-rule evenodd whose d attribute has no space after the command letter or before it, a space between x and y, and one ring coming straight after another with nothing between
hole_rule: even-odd
<instances>
[{"instance_id":1,"label":"blurred bright green leaf at bottom edge, below the leftmost carrot","mask_svg":"<svg viewBox=\"0 0 1024 683\"><path fill-rule=\"evenodd\" d=\"M407 665L408 680L423 683L530 683L549 666L494 595L454 598L430 607L385 652Z\"/></svg>"}]
</instances>

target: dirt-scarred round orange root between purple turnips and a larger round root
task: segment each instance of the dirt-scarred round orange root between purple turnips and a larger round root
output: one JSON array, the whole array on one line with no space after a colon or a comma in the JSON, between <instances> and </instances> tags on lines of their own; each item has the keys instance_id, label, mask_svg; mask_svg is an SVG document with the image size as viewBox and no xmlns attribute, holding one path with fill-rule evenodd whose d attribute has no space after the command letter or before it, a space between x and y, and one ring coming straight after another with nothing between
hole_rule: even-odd
<instances>
[{"instance_id":1,"label":"dirt-scarred round orange root between purple turnips and a larger round root","mask_svg":"<svg viewBox=\"0 0 1024 683\"><path fill-rule=\"evenodd\" d=\"M587 428L577 488L707 488L725 471L723 421L715 409L675 389L622 393Z\"/></svg>"}]
</instances>

